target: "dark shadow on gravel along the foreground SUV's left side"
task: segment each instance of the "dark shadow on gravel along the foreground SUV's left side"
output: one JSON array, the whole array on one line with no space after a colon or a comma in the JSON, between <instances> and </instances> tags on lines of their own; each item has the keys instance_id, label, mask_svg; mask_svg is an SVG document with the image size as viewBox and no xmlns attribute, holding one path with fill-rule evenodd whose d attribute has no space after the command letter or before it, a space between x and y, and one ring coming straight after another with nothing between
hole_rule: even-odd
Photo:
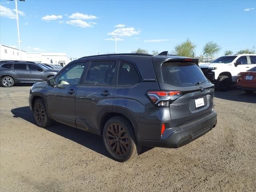
<instances>
[{"instance_id":1,"label":"dark shadow on gravel along the foreground SUV's left side","mask_svg":"<svg viewBox=\"0 0 256 192\"><path fill-rule=\"evenodd\" d=\"M32 114L29 106L15 108L11 110L13 117L20 117L32 124L36 125L36 121L34 120L34 115ZM38 127L39 128L39 127ZM79 130L64 124L60 124L58 122L54 122L51 126L45 128L46 130L58 134L64 138L72 140L86 148L89 148L99 154L102 154L108 158L108 155L102 137L91 134L89 132L85 132L83 130Z\"/></svg>"}]
</instances>

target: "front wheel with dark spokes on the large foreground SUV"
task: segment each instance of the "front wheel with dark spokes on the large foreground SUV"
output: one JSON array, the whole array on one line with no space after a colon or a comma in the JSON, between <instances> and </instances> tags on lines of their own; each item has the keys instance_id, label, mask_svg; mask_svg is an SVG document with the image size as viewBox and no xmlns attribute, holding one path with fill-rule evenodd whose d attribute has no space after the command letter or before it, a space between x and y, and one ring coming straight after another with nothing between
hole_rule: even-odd
<instances>
[{"instance_id":1,"label":"front wheel with dark spokes on the large foreground SUV","mask_svg":"<svg viewBox=\"0 0 256 192\"><path fill-rule=\"evenodd\" d=\"M40 127L48 127L52 124L52 120L48 117L46 106L42 99L37 99L33 107L34 118L36 124Z\"/></svg>"}]
</instances>

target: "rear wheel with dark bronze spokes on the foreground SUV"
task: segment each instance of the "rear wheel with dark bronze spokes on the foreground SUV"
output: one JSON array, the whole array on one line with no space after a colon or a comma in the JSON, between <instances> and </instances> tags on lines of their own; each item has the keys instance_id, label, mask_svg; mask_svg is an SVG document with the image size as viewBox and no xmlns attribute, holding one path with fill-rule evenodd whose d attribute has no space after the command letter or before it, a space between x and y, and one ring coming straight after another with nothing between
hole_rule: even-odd
<instances>
[{"instance_id":1,"label":"rear wheel with dark bronze spokes on the foreground SUV","mask_svg":"<svg viewBox=\"0 0 256 192\"><path fill-rule=\"evenodd\" d=\"M133 127L122 117L116 116L106 122L103 141L108 154L116 161L124 162L137 154Z\"/></svg>"}]
</instances>

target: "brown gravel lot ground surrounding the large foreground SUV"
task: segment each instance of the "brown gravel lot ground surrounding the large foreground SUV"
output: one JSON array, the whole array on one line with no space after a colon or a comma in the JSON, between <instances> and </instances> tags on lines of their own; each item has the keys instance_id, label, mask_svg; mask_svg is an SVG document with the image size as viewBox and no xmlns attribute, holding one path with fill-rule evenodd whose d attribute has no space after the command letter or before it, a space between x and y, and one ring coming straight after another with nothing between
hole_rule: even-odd
<instances>
[{"instance_id":1,"label":"brown gravel lot ground surrounding the large foreground SUV","mask_svg":"<svg viewBox=\"0 0 256 192\"><path fill-rule=\"evenodd\" d=\"M216 92L216 128L178 149L110 159L102 138L35 125L29 86L0 88L0 191L256 191L256 93Z\"/></svg>"}]
</instances>

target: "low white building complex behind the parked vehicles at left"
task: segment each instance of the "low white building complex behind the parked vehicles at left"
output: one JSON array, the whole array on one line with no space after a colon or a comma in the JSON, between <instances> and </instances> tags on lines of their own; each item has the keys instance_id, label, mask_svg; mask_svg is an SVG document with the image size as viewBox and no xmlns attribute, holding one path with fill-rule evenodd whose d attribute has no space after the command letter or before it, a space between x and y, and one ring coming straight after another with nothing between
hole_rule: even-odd
<instances>
[{"instance_id":1,"label":"low white building complex behind the parked vehicles at left","mask_svg":"<svg viewBox=\"0 0 256 192\"><path fill-rule=\"evenodd\" d=\"M21 52L22 59L20 59L20 51L18 49L0 45L0 60L23 60L61 66L65 66L71 61L66 53L33 53L23 50Z\"/></svg>"}]
</instances>

